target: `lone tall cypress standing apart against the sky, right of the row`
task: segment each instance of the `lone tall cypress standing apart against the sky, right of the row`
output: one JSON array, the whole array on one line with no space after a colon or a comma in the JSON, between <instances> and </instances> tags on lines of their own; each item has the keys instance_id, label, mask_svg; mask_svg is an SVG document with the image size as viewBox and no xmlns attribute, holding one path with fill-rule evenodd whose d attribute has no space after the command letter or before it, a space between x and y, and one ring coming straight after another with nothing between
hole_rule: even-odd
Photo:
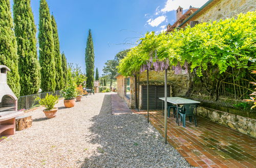
<instances>
[{"instance_id":1,"label":"lone tall cypress standing apart against the sky, right of the row","mask_svg":"<svg viewBox=\"0 0 256 168\"><path fill-rule=\"evenodd\" d=\"M93 87L94 81L94 47L91 29L87 38L86 45L86 86Z\"/></svg>"}]
</instances>

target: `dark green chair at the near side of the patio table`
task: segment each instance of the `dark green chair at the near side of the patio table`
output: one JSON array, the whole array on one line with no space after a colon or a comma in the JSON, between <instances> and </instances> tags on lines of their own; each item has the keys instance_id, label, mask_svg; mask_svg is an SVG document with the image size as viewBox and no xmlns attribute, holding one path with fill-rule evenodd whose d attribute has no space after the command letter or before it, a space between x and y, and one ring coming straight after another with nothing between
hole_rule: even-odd
<instances>
[{"instance_id":1,"label":"dark green chair at the near side of the patio table","mask_svg":"<svg viewBox=\"0 0 256 168\"><path fill-rule=\"evenodd\" d=\"M195 126L197 126L196 116L194 115L194 109L197 108L197 104L185 104L181 108L179 108L177 121L179 125L179 115L181 117L180 121L183 122L183 127L186 127L186 117L189 118L189 122L191 123L192 117L194 118Z\"/></svg>"}]
</instances>

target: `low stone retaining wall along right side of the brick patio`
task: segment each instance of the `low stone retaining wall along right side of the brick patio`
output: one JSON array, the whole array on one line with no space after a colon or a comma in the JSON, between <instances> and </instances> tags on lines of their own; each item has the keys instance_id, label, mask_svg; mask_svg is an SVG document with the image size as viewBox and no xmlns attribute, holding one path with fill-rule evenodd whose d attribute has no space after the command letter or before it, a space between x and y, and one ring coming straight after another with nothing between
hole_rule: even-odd
<instances>
[{"instance_id":1,"label":"low stone retaining wall along right side of the brick patio","mask_svg":"<svg viewBox=\"0 0 256 168\"><path fill-rule=\"evenodd\" d=\"M210 119L239 132L256 137L256 120L225 113L223 111L199 106L197 108L198 116Z\"/></svg>"}]
</instances>

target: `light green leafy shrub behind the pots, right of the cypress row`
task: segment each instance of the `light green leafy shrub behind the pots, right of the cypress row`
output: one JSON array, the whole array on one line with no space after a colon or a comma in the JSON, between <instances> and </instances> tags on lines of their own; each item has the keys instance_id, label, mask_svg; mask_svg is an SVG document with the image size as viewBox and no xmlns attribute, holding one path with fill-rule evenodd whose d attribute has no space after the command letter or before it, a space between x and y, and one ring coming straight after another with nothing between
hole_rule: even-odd
<instances>
[{"instance_id":1,"label":"light green leafy shrub behind the pots, right of the cypress row","mask_svg":"<svg viewBox=\"0 0 256 168\"><path fill-rule=\"evenodd\" d=\"M75 67L73 64L69 64L69 69L71 70L71 77L76 86L84 86L84 82L86 81L87 77L82 73L81 67L79 67L78 64L76 64Z\"/></svg>"}]
</instances>

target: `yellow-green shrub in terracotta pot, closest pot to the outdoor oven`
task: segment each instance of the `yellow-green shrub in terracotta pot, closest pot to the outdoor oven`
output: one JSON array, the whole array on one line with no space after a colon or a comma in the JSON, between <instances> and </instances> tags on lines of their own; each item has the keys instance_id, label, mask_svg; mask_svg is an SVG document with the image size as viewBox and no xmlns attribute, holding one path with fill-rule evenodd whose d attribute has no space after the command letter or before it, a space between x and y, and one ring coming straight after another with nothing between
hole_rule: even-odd
<instances>
[{"instance_id":1,"label":"yellow-green shrub in terracotta pot, closest pot to the outdoor oven","mask_svg":"<svg viewBox=\"0 0 256 168\"><path fill-rule=\"evenodd\" d=\"M54 107L54 105L58 103L58 96L53 95L46 95L45 98L40 99L39 98L39 104L46 107L46 109L42 110L44 111L46 117L48 119L56 117L56 113L58 108Z\"/></svg>"}]
</instances>

